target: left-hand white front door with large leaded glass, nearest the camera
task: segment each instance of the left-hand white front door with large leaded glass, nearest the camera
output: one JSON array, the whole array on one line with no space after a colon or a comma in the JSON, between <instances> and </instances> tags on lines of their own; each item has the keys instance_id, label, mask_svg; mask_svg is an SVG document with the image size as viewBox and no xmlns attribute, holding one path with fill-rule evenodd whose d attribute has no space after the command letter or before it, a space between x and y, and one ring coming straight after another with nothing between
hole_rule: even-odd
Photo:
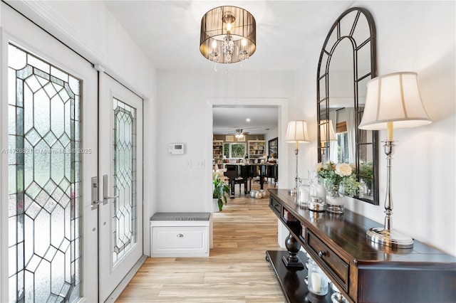
<instances>
[{"instance_id":1,"label":"left-hand white front door with large leaded glass, nearest the camera","mask_svg":"<svg viewBox=\"0 0 456 303\"><path fill-rule=\"evenodd\" d=\"M96 100L96 71L4 4L1 18L8 75L1 79L0 167L8 171L0 187L0 219L8 222L0 230L8 245L1 244L8 255L1 289L8 291L0 302L94 302L98 220L84 180L97 174L90 131L98 110L86 102Z\"/></svg>"}]
</instances>

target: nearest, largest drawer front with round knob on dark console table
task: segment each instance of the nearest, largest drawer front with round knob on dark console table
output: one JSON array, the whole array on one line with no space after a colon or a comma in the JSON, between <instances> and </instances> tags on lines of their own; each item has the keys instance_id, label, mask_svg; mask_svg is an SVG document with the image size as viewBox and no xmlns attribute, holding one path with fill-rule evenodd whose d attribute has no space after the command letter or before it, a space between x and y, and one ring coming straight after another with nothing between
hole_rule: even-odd
<instances>
[{"instance_id":1,"label":"nearest, largest drawer front with round knob on dark console table","mask_svg":"<svg viewBox=\"0 0 456 303\"><path fill-rule=\"evenodd\" d=\"M328 248L316 235L306 229L306 243L309 248L314 251L318 257L317 262L320 260L323 267L328 270L331 276L338 280L343 286L343 290L348 291L348 264L344 262L341 257L336 255L333 250Z\"/></svg>"}]
</instances>

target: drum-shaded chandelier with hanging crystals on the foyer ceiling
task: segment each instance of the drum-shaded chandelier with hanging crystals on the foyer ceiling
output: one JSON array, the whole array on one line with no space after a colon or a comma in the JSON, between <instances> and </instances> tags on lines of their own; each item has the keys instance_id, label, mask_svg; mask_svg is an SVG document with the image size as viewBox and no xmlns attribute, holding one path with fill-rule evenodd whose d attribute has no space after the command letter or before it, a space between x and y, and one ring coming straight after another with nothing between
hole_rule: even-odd
<instances>
[{"instance_id":1,"label":"drum-shaded chandelier with hanging crystals on the foyer ceiling","mask_svg":"<svg viewBox=\"0 0 456 303\"><path fill-rule=\"evenodd\" d=\"M201 19L199 51L214 63L237 63L255 52L257 23L237 6L219 6Z\"/></svg>"}]
</instances>

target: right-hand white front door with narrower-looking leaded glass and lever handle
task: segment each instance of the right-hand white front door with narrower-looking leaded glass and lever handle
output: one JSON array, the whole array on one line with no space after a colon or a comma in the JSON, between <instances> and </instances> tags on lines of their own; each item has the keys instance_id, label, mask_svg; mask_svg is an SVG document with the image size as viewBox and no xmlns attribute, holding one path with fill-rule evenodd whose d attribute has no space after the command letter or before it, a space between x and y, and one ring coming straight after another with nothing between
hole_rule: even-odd
<instances>
[{"instance_id":1,"label":"right-hand white front door with narrower-looking leaded glass and lever handle","mask_svg":"<svg viewBox=\"0 0 456 303\"><path fill-rule=\"evenodd\" d=\"M108 204L100 207L100 301L142 256L142 99L100 74L100 174Z\"/></svg>"}]
</instances>

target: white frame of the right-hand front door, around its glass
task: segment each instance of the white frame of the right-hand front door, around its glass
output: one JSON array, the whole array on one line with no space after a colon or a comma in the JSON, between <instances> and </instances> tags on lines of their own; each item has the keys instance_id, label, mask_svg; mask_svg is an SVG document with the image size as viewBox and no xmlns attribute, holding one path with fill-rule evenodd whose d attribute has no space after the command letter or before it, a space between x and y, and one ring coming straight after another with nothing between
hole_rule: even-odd
<instances>
[{"instance_id":1,"label":"white frame of the right-hand front door, around its glass","mask_svg":"<svg viewBox=\"0 0 456 303\"><path fill-rule=\"evenodd\" d=\"M120 198L109 198L107 204L99 206L99 300L115 300L118 291L123 289L122 283L129 281L130 270L138 267L145 260L143 252L143 213L142 213L142 98L135 95L128 88L118 83L113 78L103 73L99 67L100 100L99 100L99 157L98 157L98 180L100 190L103 190L103 176L108 176L108 196L113 197L113 98L125 102L136 109L136 148L135 148L135 184L136 184L136 242L118 262L113 261L113 203L120 202ZM101 196L103 197L103 191ZM134 270L135 272L136 270ZM120 285L120 287L118 287Z\"/></svg>"}]
</instances>

